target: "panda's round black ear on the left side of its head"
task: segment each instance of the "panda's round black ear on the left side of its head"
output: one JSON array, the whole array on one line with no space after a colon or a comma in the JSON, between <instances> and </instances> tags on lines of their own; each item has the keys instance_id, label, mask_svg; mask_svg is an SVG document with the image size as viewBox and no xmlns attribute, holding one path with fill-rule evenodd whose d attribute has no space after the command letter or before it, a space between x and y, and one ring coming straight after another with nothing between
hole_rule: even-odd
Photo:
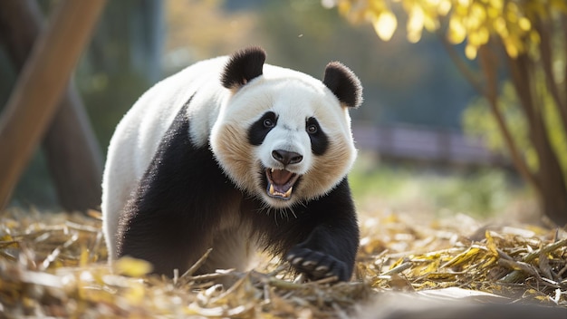
<instances>
[{"instance_id":1,"label":"panda's round black ear on the left side of its head","mask_svg":"<svg viewBox=\"0 0 567 319\"><path fill-rule=\"evenodd\" d=\"M247 82L262 75L265 52L260 47L250 47L230 56L221 82L226 89L239 89Z\"/></svg>"}]
</instances>

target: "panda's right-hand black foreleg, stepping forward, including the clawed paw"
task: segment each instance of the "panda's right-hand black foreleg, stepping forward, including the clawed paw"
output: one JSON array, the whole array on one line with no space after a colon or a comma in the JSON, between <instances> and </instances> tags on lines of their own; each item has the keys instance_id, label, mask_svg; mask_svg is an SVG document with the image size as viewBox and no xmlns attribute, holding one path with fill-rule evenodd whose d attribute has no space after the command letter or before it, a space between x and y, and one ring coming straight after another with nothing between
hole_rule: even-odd
<instances>
[{"instance_id":1,"label":"panda's right-hand black foreleg, stepping forward, including the clawed paw","mask_svg":"<svg viewBox=\"0 0 567 319\"><path fill-rule=\"evenodd\" d=\"M305 216L312 219L311 233L292 247L285 258L311 279L336 275L351 278L359 247L359 227L347 179L327 196L308 204Z\"/></svg>"}]
</instances>

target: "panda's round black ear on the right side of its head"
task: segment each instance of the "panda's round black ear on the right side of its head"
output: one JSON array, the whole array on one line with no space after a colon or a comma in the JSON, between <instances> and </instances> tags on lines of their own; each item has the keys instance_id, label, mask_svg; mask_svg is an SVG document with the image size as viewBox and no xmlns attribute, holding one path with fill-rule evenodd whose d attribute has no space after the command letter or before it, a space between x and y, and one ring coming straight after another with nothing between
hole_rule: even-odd
<instances>
[{"instance_id":1,"label":"panda's round black ear on the right side of its head","mask_svg":"<svg viewBox=\"0 0 567 319\"><path fill-rule=\"evenodd\" d=\"M360 80L352 73L351 69L342 65L342 63L332 62L327 64L322 82L344 106L357 108L362 103Z\"/></svg>"}]
</instances>

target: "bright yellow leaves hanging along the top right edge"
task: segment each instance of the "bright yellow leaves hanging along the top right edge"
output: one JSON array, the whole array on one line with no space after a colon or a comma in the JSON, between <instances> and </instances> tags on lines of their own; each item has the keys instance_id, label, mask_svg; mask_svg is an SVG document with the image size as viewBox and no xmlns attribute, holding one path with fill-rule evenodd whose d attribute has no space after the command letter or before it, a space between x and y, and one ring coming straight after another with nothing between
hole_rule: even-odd
<instances>
[{"instance_id":1,"label":"bright yellow leaves hanging along the top right edge","mask_svg":"<svg viewBox=\"0 0 567 319\"><path fill-rule=\"evenodd\" d=\"M446 36L449 43L466 41L465 53L476 58L478 48L491 37L499 37L511 57L529 52L539 43L539 34L533 30L536 20L549 18L550 13L567 14L564 0L338 0L341 14L360 22L370 20L380 39L388 41L400 20L396 15L408 16L408 41L416 43L425 28L437 32L442 21L448 21ZM399 5L394 7L394 5ZM392 7L391 10L388 8ZM382 13L387 12L382 17ZM396 15L394 15L396 14Z\"/></svg>"}]
</instances>

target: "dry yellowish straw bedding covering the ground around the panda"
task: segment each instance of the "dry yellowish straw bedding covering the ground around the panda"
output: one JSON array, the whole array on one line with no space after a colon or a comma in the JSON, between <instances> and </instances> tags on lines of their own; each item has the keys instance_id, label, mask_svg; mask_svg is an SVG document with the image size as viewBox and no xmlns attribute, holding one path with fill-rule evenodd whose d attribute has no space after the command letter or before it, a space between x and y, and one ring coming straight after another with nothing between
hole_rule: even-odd
<instances>
[{"instance_id":1,"label":"dry yellowish straw bedding covering the ground around the panda","mask_svg":"<svg viewBox=\"0 0 567 319\"><path fill-rule=\"evenodd\" d=\"M353 280L332 284L292 277L287 265L267 258L251 272L193 275L190 269L173 279L144 275L149 267L138 260L111 269L100 213L8 210L0 219L0 316L349 317L392 291L470 292L481 302L567 308L562 229L376 215L361 218ZM226 289L219 282L235 284Z\"/></svg>"}]
</instances>

